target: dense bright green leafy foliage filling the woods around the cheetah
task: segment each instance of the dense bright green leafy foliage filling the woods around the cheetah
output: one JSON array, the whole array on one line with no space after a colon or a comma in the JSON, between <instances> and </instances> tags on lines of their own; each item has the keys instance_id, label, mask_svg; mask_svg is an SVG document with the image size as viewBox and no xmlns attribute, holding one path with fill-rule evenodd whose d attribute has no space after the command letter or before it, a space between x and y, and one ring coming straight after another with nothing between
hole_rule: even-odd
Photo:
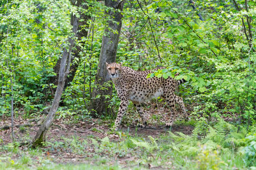
<instances>
[{"instance_id":1,"label":"dense bright green leafy foliage filling the woods around the cheetah","mask_svg":"<svg viewBox=\"0 0 256 170\"><path fill-rule=\"evenodd\" d=\"M72 115L78 120L90 117L102 36L111 19L105 11L112 8L99 1L83 3L88 8L76 7L68 0L0 2L0 116L10 116L12 97L16 116L38 116L49 107L47 103L52 101L56 88L56 84L49 83L57 74L53 67L73 36L71 14L79 16L82 12L90 16L89 28L84 28L88 35L76 41L81 58L73 59L79 64L74 79L65 88L57 116ZM245 156L245 162L237 167L255 166L256 3L129 0L122 14L117 62L135 70L166 67L148 76L168 78L180 73L176 79L183 78L187 83L180 86L178 93L191 118L200 121L191 136L170 133L159 138L160 144L151 138L149 142L127 137L120 146L104 138L99 146L93 144L95 150L102 152L108 147L116 151L121 147L131 152L138 148L144 154L142 164L152 151L158 150L159 155L153 155L158 157L168 156L171 150L171 158L177 154L196 159L191 164L200 169L231 168L236 163L225 164L222 160L226 162L231 159L229 154L236 152L236 160L240 154ZM117 112L115 91L105 97ZM97 116L115 117L102 113ZM174 141L162 145L166 138Z\"/></svg>"}]
</instances>

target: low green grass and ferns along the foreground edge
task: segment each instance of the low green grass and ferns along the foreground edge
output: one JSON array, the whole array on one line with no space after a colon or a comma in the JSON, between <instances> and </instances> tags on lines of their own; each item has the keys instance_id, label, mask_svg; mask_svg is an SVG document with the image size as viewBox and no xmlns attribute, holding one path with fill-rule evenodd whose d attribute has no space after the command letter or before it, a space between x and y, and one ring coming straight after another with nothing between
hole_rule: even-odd
<instances>
[{"instance_id":1,"label":"low green grass and ferns along the foreground edge","mask_svg":"<svg viewBox=\"0 0 256 170\"><path fill-rule=\"evenodd\" d=\"M197 121L191 135L168 133L158 138L119 131L104 138L50 139L43 148L1 146L1 169L254 169L256 133L219 119ZM115 137L115 139L113 138ZM117 139L116 139L117 137ZM65 159L66 158L66 159ZM67 161L68 160L68 161ZM65 163L62 164L62 163ZM74 164L81 163L81 164Z\"/></svg>"}]
</instances>

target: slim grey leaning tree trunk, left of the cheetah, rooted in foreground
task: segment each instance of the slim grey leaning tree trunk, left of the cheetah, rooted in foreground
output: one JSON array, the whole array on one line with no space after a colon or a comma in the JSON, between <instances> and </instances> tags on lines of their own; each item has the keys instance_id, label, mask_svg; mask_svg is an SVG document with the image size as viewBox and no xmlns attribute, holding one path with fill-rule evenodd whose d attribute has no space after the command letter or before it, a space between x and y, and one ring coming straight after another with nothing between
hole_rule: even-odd
<instances>
[{"instance_id":1,"label":"slim grey leaning tree trunk, left of the cheetah, rooted in foreground","mask_svg":"<svg viewBox=\"0 0 256 170\"><path fill-rule=\"evenodd\" d=\"M73 19L73 32L76 35L77 27L78 27L78 23L77 23L78 19L76 18L75 15L72 16L72 19ZM40 126L34 139L32 140L32 143L31 143L32 147L40 146L42 145L42 142L46 141L46 133L49 129L49 126L51 126L52 120L55 116L57 108L59 107L61 94L63 92L63 88L65 85L65 79L67 78L67 75L69 73L69 68L71 65L71 50L73 48L75 39L74 37L70 37L68 41L69 41L69 49L68 50L65 48L63 49L63 55L61 57L61 62L60 62L58 86L55 92L54 99L52 101L51 109L49 110L46 120Z\"/></svg>"}]
</instances>

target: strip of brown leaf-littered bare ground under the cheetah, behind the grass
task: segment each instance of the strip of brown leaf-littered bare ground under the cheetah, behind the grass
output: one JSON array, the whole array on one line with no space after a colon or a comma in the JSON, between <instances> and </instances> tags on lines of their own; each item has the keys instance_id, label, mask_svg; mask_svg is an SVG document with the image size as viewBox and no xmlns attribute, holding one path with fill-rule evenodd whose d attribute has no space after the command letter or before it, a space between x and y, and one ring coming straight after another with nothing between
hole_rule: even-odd
<instances>
[{"instance_id":1,"label":"strip of brown leaf-littered bare ground under the cheetah, behind the grass","mask_svg":"<svg viewBox=\"0 0 256 170\"><path fill-rule=\"evenodd\" d=\"M172 133L181 132L186 135L190 135L194 128L194 122L184 124L176 122L172 128L166 128L164 126L168 113L168 109L153 107L147 108L147 112L151 114L148 120L146 128L139 128L136 125L141 122L139 114L133 112L133 108L128 109L128 113L122 120L122 125L119 128L124 134L129 134L131 137L158 137L159 135L168 134L168 131ZM36 131L39 129L40 124L46 118L45 115L40 115L34 118L24 118L24 114L20 112L14 118L14 135L15 140L19 142L30 141L35 136ZM177 117L177 120L182 120L182 117ZM56 118L53 120L52 125L47 133L48 139L61 140L63 137L97 137L102 139L112 133L109 129L114 123L114 120L102 120L100 118L88 117L86 120L81 118L74 118L67 116L66 118ZM13 142L11 137L11 119L10 117L2 117L0 122L0 137L1 143L7 145ZM1 128L2 127L2 128Z\"/></svg>"}]
</instances>

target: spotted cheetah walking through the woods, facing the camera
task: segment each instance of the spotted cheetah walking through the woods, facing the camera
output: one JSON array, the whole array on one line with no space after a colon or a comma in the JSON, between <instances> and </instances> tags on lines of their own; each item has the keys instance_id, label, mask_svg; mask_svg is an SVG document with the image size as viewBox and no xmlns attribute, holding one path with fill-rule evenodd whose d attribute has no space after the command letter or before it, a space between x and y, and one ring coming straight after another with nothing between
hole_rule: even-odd
<instances>
[{"instance_id":1,"label":"spotted cheetah walking through the woods, facing the camera","mask_svg":"<svg viewBox=\"0 0 256 170\"><path fill-rule=\"evenodd\" d=\"M172 126L176 117L175 103L180 105L183 115L185 118L188 118L183 99L174 94L176 87L185 82L184 79L175 80L171 77L167 79L156 77L147 78L147 75L153 73L153 71L135 71L129 67L122 66L122 63L109 64L106 62L106 69L115 85L117 95L121 100L113 127L114 130L118 130L122 117L129 104L129 100L139 112L139 116L142 118L141 126L143 128L147 126L149 114L143 111L141 104L159 96L163 97L172 113L170 120L166 122L167 127Z\"/></svg>"}]
</instances>

